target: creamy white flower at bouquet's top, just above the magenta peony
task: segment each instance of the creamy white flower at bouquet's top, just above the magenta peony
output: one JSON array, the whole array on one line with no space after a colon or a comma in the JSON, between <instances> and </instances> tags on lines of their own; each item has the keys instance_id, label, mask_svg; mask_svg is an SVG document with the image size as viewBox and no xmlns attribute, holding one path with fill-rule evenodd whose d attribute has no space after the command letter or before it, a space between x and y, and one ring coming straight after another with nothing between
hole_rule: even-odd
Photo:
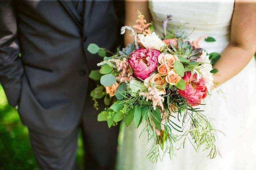
<instances>
[{"instance_id":1,"label":"creamy white flower at bouquet's top, just above the magenta peony","mask_svg":"<svg viewBox=\"0 0 256 170\"><path fill-rule=\"evenodd\" d=\"M144 36L143 34L138 34L139 42L145 47L150 49L161 50L164 47L164 42L156 35L155 32L150 35Z\"/></svg>"}]
</instances>

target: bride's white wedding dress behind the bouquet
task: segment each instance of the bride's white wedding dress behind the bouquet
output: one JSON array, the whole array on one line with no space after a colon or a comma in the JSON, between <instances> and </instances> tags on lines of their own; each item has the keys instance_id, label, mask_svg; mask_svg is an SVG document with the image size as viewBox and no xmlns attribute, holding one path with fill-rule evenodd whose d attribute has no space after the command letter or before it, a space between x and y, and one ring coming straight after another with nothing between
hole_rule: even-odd
<instances>
[{"instance_id":1,"label":"bride's white wedding dress behind the bouquet","mask_svg":"<svg viewBox=\"0 0 256 170\"><path fill-rule=\"evenodd\" d=\"M173 25L189 22L183 27L194 40L202 35L211 36L216 42L200 45L208 53L220 53L229 43L230 21L234 0L153 0L149 2L155 32L162 35L161 20L172 14ZM243 56L241 56L243 57ZM163 161L152 164L146 159L146 132L140 132L131 124L124 129L123 143L118 148L117 170L253 170L256 169L256 62L251 62L235 77L212 90L204 100L204 114L215 119L218 133L217 147L221 156L209 159L208 152L195 152L187 142L185 148L175 150L170 160L166 154ZM122 135L121 135L122 136Z\"/></svg>"}]
</instances>

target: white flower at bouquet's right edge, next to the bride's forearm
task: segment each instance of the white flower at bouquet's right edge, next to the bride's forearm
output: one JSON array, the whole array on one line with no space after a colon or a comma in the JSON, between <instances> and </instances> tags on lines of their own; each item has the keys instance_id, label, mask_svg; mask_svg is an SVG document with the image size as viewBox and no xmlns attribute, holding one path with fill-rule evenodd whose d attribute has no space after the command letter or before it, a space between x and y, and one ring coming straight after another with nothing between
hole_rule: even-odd
<instances>
[{"instance_id":1,"label":"white flower at bouquet's right edge, next to the bride's forearm","mask_svg":"<svg viewBox=\"0 0 256 170\"><path fill-rule=\"evenodd\" d=\"M208 91L210 91L211 87L213 86L213 74L210 72L212 70L212 64L210 64L209 55L206 55L206 52L196 60L197 62L202 63L199 67L200 74L204 77L206 81L206 87ZM200 78L199 73L197 73L197 77Z\"/></svg>"}]
</instances>

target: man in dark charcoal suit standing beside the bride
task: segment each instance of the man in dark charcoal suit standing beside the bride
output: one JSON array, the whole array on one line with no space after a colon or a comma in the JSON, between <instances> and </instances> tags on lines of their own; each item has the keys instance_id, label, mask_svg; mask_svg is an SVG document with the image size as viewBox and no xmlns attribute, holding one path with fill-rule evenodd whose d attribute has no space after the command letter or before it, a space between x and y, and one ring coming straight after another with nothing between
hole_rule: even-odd
<instances>
[{"instance_id":1,"label":"man in dark charcoal suit standing beside the bride","mask_svg":"<svg viewBox=\"0 0 256 170\"><path fill-rule=\"evenodd\" d=\"M0 82L41 169L77 168L80 127L86 169L114 168L118 126L97 122L88 75L101 59L86 48L116 50L117 16L110 0L0 1Z\"/></svg>"}]
</instances>

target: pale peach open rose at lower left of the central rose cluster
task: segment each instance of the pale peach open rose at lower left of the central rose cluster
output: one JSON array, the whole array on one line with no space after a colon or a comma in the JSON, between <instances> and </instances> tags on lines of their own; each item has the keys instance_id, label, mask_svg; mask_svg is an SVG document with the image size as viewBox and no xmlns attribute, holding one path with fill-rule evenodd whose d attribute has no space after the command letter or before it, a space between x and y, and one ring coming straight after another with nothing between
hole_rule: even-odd
<instances>
[{"instance_id":1,"label":"pale peach open rose at lower left of the central rose cluster","mask_svg":"<svg viewBox=\"0 0 256 170\"><path fill-rule=\"evenodd\" d=\"M165 79L159 73L154 73L144 80L144 85L146 87L151 87L151 84L156 84L157 88L160 87L160 89L158 89L160 94L166 94L165 89L161 89L161 87L163 87L166 84L166 82Z\"/></svg>"}]
</instances>

